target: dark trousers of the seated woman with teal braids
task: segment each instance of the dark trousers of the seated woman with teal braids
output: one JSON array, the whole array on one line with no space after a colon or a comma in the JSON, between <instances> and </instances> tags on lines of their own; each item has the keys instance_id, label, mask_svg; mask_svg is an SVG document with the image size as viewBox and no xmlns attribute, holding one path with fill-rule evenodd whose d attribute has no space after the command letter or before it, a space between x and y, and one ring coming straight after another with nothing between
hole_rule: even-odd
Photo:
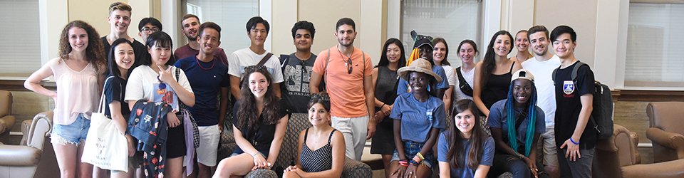
<instances>
[{"instance_id":1,"label":"dark trousers of the seated woman with teal braids","mask_svg":"<svg viewBox=\"0 0 684 178\"><path fill-rule=\"evenodd\" d=\"M541 162L535 161L537 164L537 176L540 178L549 177L549 174L544 170L544 165ZM515 178L529 178L532 177L532 172L527 166L527 163L517 156L507 155L502 153L494 154L492 167L489 169L489 177L498 177L504 172L511 172Z\"/></svg>"}]
</instances>

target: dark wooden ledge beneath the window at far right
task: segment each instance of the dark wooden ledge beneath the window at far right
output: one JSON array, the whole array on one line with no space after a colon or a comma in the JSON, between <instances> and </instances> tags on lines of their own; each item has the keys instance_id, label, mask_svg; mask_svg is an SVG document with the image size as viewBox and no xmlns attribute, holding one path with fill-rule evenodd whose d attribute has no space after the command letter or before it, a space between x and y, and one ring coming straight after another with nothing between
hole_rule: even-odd
<instances>
[{"instance_id":1,"label":"dark wooden ledge beneath the window at far right","mask_svg":"<svg viewBox=\"0 0 684 178\"><path fill-rule=\"evenodd\" d=\"M684 101L684 91L613 90L613 101Z\"/></svg>"}]
</instances>

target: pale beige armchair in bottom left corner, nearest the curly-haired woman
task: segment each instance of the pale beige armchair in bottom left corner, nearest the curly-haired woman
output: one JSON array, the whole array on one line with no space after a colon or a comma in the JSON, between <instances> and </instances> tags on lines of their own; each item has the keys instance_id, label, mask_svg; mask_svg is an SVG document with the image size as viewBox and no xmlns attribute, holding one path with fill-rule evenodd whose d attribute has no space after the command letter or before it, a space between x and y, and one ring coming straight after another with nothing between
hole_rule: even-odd
<instances>
[{"instance_id":1,"label":"pale beige armchair in bottom left corner, nearest the curly-haired woman","mask_svg":"<svg viewBox=\"0 0 684 178\"><path fill-rule=\"evenodd\" d=\"M0 145L0 177L55 177L59 167L50 142L52 111L41 112L21 125L20 145Z\"/></svg>"}]
</instances>

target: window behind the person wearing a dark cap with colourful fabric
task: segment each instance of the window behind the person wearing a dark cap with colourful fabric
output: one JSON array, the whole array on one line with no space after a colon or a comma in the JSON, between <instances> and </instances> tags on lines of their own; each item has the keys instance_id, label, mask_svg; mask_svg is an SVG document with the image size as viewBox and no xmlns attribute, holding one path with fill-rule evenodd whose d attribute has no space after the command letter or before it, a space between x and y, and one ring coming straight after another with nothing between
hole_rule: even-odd
<instances>
[{"instance_id":1,"label":"window behind the person wearing a dark cap with colourful fabric","mask_svg":"<svg viewBox=\"0 0 684 178\"><path fill-rule=\"evenodd\" d=\"M401 37L406 57L413 50L411 31L444 38L449 44L449 58L452 66L461 66L456 48L458 43L471 39L478 45L481 31L482 1L479 0L403 0L401 4ZM482 46L480 46L480 51Z\"/></svg>"}]
</instances>

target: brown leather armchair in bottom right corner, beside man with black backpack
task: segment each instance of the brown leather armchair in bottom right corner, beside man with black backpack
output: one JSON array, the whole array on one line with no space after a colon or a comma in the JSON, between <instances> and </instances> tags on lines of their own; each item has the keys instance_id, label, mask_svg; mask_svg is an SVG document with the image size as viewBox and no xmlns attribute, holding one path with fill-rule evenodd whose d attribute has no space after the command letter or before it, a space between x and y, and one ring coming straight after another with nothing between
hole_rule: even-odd
<instances>
[{"instance_id":1,"label":"brown leather armchair in bottom right corner, beside man with black backpack","mask_svg":"<svg viewBox=\"0 0 684 178\"><path fill-rule=\"evenodd\" d=\"M591 172L603 177L684 177L684 159L655 164L641 163L636 150L638 135L621 125L613 125L613 136L598 140Z\"/></svg>"}]
</instances>

